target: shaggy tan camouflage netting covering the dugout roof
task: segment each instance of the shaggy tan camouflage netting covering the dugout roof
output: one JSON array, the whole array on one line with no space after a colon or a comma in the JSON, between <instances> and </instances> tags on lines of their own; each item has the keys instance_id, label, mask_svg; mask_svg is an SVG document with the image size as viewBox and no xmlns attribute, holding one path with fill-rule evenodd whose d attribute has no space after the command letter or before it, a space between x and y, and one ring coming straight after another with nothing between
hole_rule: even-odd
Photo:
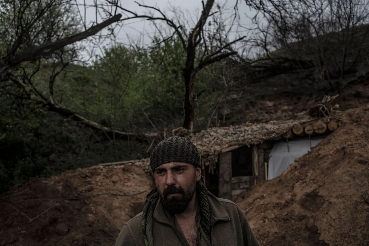
<instances>
[{"instance_id":1,"label":"shaggy tan camouflage netting covering the dugout roof","mask_svg":"<svg viewBox=\"0 0 369 246\"><path fill-rule=\"evenodd\" d=\"M231 127L209 128L196 134L191 140L199 149L201 163L204 166L210 165L211 170L217 163L222 149L235 145L251 146L266 140L279 139L290 131L294 124L306 121L270 121L265 124L246 123Z\"/></svg>"}]
</instances>

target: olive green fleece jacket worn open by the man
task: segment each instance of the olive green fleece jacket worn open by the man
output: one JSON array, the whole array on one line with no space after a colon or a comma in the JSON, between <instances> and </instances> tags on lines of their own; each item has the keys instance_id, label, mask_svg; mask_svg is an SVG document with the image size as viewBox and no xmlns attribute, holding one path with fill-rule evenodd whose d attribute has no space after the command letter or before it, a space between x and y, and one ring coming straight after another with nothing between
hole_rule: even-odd
<instances>
[{"instance_id":1,"label":"olive green fleece jacket worn open by the man","mask_svg":"<svg viewBox=\"0 0 369 246\"><path fill-rule=\"evenodd\" d=\"M217 198L208 193L211 213L211 245L213 246L259 246L247 222L244 211L234 202ZM142 212L130 219L124 226L115 246L145 246L142 236ZM157 246L189 246L183 245L179 237L184 235L174 216L163 209L161 200L154 211L153 222L154 245ZM184 240L184 242L187 242ZM199 243L201 246L201 242Z\"/></svg>"}]
</instances>

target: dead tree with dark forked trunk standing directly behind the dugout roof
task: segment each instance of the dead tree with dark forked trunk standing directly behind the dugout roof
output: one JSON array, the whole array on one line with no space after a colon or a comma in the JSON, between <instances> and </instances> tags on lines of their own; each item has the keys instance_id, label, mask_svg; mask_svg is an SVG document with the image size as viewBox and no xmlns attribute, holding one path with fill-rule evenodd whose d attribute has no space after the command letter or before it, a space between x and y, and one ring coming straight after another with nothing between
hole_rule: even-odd
<instances>
[{"instance_id":1,"label":"dead tree with dark forked trunk standing directly behind the dugout roof","mask_svg":"<svg viewBox=\"0 0 369 246\"><path fill-rule=\"evenodd\" d=\"M107 0L108 1L108 0ZM113 1L108 1L113 4ZM216 23L218 28L216 32L206 32L206 24L210 17L215 14L221 13L221 7L217 5L217 11L211 12L214 8L214 0L207 0L205 3L202 1L203 9L201 11L200 18L195 22L194 26L186 27L186 23L178 23L179 21L173 21L158 7L148 6L137 3L139 6L148 10L154 11L159 14L137 14L130 11L118 3L115 6L120 10L123 10L129 16L125 19L144 18L151 21L164 21L173 29L173 34L169 37L163 37L163 39L173 38L173 36L179 37L182 42L182 48L186 52L186 62L183 65L182 76L184 79L185 96L184 96L184 122L183 127L193 130L194 118L195 118L195 102L194 102L194 89L196 74L204 67L218 62L224 58L232 55L236 55L237 52L233 49L233 45L245 39L245 36L235 38L233 41L229 40L230 30L221 28L223 23ZM178 18L177 18L178 20ZM154 23L154 25L156 25ZM190 31L186 31L186 29ZM231 29L231 28L230 28ZM220 31L220 33L219 33ZM209 43L209 37L214 41L213 45ZM216 45L214 45L216 43Z\"/></svg>"}]
</instances>

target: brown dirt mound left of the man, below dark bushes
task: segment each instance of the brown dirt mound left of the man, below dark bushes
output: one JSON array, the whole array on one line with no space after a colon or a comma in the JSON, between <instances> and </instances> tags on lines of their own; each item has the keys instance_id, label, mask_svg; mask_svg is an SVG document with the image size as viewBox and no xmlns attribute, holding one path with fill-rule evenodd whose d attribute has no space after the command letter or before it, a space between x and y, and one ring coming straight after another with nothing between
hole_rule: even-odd
<instances>
[{"instance_id":1,"label":"brown dirt mound left of the man, below dark bushes","mask_svg":"<svg viewBox=\"0 0 369 246\"><path fill-rule=\"evenodd\" d=\"M14 187L0 197L0 245L114 245L153 185L137 166L95 166Z\"/></svg>"}]
</instances>

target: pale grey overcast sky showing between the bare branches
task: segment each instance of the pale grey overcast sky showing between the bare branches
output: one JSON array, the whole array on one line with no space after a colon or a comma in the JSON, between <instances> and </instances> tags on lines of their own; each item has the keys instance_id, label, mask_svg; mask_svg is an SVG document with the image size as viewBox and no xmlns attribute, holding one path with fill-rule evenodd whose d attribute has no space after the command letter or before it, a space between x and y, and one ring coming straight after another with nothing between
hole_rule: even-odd
<instances>
[{"instance_id":1,"label":"pale grey overcast sky showing between the bare branches","mask_svg":"<svg viewBox=\"0 0 369 246\"><path fill-rule=\"evenodd\" d=\"M91 1L92 0L88 0ZM88 2L86 1L86 2ZM104 0L98 0L100 2L103 2ZM231 16L232 13L234 13L234 6L237 0L217 0L216 3L219 3L224 8L224 16ZM202 4L201 0L138 0L141 4L146 4L149 6L156 6L159 7L163 12L165 12L168 16L173 18L173 12L170 11L170 9L174 6L177 10L182 11L184 13L185 18L189 20L189 23L186 23L188 26L193 26L194 24L191 23L191 21L195 22L200 16ZM83 0L79 0L79 3L83 3ZM122 6L126 9L136 12L137 14L147 14L148 10L144 7L138 6L137 3L135 3L135 0L121 0ZM248 6L246 6L244 0L238 0L238 11L240 15L240 24L243 27L239 27L239 25L232 28L232 33L230 34L230 39L233 39L237 37L237 35L245 35L245 27L251 26L250 17L255 15L255 11L250 10ZM212 12L215 11L215 5L212 9ZM80 7L80 11L82 15L84 14L84 8ZM123 18L125 17L124 11L119 10L118 13L123 14ZM91 22L96 20L96 14L94 8L87 9L86 11L86 22ZM230 19L230 18L229 18ZM101 22L101 19L98 20ZM228 21L229 22L229 21ZM160 23L163 25L163 27L167 27L163 21L156 21L156 23ZM168 29L170 30L170 29ZM123 44L129 44L132 40L137 42L138 39L141 39L140 44L147 45L150 41L152 36L156 30L154 26L152 25L151 21L143 20L143 19L134 19L134 20L128 20L124 22L123 27L117 27L115 28L115 34L117 37L117 41L121 42ZM103 30L100 33L107 33L107 29ZM104 46L112 45L111 42L105 42ZM237 48L237 47L235 47ZM97 49L97 53L101 53Z\"/></svg>"}]
</instances>

